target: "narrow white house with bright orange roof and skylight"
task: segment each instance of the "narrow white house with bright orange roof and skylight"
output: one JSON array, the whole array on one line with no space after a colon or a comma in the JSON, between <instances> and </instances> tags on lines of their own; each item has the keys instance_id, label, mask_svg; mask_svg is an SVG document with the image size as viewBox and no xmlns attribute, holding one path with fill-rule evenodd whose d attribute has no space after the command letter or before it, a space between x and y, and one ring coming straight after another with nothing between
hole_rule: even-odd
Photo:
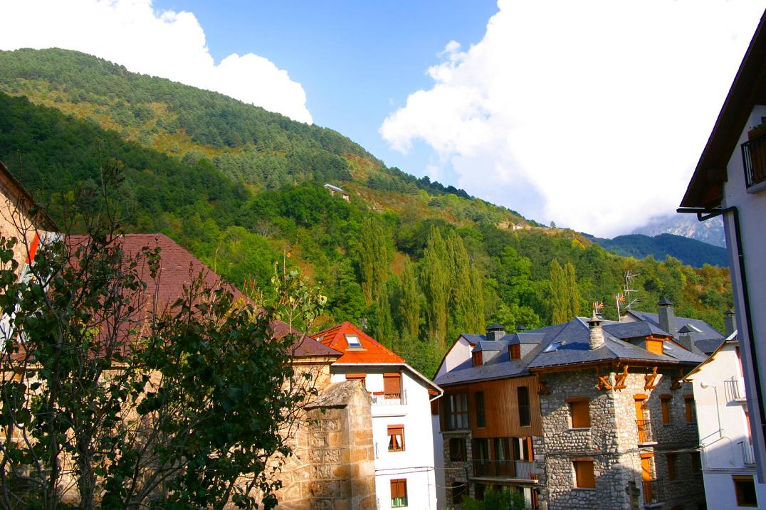
<instances>
[{"instance_id":1,"label":"narrow white house with bright orange roof and skylight","mask_svg":"<svg viewBox=\"0 0 766 510\"><path fill-rule=\"evenodd\" d=\"M330 381L358 380L372 397L378 508L440 508L430 405L440 387L350 322L313 336L343 353Z\"/></svg>"}]
</instances>

